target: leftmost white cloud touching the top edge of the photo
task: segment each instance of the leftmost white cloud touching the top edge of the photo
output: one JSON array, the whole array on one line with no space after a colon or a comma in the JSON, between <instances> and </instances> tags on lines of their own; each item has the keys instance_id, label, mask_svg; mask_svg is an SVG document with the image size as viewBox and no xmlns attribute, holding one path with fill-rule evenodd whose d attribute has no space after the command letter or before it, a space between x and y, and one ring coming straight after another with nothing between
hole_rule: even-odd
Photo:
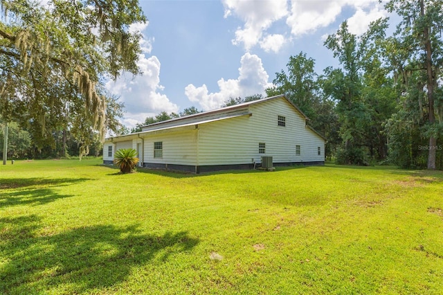
<instances>
[{"instance_id":1,"label":"leftmost white cloud touching the top edge of the photo","mask_svg":"<svg viewBox=\"0 0 443 295\"><path fill-rule=\"evenodd\" d=\"M246 51L259 44L263 33L274 21L287 15L287 0L224 0L224 17L237 15L245 24L237 28L233 44L243 44Z\"/></svg>"}]
</instances>

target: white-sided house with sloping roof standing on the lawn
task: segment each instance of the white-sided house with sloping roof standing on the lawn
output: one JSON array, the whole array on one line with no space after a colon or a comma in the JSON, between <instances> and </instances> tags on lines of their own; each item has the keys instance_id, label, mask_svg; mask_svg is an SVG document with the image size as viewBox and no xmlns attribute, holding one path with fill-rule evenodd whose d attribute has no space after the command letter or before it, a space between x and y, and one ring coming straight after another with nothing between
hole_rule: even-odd
<instances>
[{"instance_id":1,"label":"white-sided house with sloping roof standing on the lawn","mask_svg":"<svg viewBox=\"0 0 443 295\"><path fill-rule=\"evenodd\" d=\"M307 120L283 95L272 96L107 138L103 162L111 164L120 148L134 148L140 166L195 173L253 169L262 157L272 157L273 166L323 165L325 138Z\"/></svg>"}]
</instances>

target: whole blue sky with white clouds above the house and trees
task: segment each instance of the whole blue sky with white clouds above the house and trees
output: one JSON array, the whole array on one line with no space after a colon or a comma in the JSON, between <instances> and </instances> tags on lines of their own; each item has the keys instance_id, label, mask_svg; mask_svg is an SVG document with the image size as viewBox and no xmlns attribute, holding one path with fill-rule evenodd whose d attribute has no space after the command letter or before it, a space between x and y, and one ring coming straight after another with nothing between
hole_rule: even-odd
<instances>
[{"instance_id":1,"label":"whole blue sky with white clouds above the house and trees","mask_svg":"<svg viewBox=\"0 0 443 295\"><path fill-rule=\"evenodd\" d=\"M347 20L363 33L388 14L378 0L140 0L147 24L139 66L107 89L125 103L122 123L134 127L161 111L216 109L230 97L264 94L275 73L301 51L316 71L337 66L323 46Z\"/></svg>"}]
</instances>

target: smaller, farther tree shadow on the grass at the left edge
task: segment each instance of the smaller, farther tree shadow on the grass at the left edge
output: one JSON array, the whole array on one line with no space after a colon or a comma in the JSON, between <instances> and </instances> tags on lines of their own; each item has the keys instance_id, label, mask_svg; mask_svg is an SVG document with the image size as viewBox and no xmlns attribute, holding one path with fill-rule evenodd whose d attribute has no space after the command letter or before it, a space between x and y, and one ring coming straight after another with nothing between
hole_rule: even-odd
<instances>
[{"instance_id":1,"label":"smaller, farther tree shadow on the grass at the left edge","mask_svg":"<svg viewBox=\"0 0 443 295\"><path fill-rule=\"evenodd\" d=\"M60 195L51 187L69 186L90 179L1 179L0 208L17 205L42 205L56 199L72 197ZM43 187L42 187L43 186ZM4 190L12 191L4 191Z\"/></svg>"}]
</instances>

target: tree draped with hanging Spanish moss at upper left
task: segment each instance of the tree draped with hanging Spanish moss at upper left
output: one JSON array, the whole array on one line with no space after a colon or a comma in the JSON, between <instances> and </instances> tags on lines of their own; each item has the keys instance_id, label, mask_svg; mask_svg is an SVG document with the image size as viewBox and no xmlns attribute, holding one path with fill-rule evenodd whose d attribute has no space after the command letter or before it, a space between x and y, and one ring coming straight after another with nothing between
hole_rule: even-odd
<instances>
[{"instance_id":1,"label":"tree draped with hanging Spanish moss at upper left","mask_svg":"<svg viewBox=\"0 0 443 295\"><path fill-rule=\"evenodd\" d=\"M30 125L42 142L51 138L51 129L84 118L74 132L83 138L85 154L91 132L100 138L105 134L103 79L121 71L139 73L141 34L129 30L146 21L138 1L0 3L5 12L0 23L1 118Z\"/></svg>"}]
</instances>

